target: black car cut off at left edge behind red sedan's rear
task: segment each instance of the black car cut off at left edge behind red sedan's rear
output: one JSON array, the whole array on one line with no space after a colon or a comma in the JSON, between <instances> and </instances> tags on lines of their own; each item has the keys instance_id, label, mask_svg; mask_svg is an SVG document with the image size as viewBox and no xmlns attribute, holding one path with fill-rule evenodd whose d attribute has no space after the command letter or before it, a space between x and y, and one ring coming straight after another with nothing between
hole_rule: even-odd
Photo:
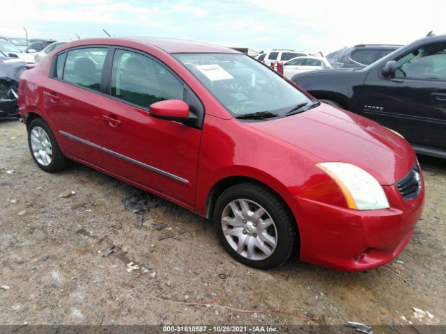
<instances>
[{"instance_id":1,"label":"black car cut off at left edge behind red sedan's rear","mask_svg":"<svg viewBox=\"0 0 446 334\"><path fill-rule=\"evenodd\" d=\"M18 118L17 92L25 69L22 59L3 57L0 52L0 119Z\"/></svg>"}]
</instances>

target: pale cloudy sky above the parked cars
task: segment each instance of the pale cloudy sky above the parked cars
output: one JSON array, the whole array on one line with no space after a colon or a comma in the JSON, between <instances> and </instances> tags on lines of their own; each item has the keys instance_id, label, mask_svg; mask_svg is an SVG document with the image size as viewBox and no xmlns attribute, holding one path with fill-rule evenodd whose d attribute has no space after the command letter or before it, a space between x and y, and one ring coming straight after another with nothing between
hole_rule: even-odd
<instances>
[{"instance_id":1,"label":"pale cloudy sky above the parked cars","mask_svg":"<svg viewBox=\"0 0 446 334\"><path fill-rule=\"evenodd\" d=\"M446 33L446 0L0 0L0 35L152 36L256 51L407 44Z\"/></svg>"}]
</instances>

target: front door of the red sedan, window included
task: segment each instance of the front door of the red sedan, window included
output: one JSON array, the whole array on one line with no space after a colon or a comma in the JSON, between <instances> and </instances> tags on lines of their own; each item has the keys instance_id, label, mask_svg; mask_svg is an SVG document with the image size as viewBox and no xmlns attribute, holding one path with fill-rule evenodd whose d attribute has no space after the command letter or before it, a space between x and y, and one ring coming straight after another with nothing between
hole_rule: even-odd
<instances>
[{"instance_id":1,"label":"front door of the red sedan, window included","mask_svg":"<svg viewBox=\"0 0 446 334\"><path fill-rule=\"evenodd\" d=\"M192 91L154 58L116 49L111 94L101 122L107 170L193 205L201 130L148 113L160 100L188 103Z\"/></svg>"}]
</instances>

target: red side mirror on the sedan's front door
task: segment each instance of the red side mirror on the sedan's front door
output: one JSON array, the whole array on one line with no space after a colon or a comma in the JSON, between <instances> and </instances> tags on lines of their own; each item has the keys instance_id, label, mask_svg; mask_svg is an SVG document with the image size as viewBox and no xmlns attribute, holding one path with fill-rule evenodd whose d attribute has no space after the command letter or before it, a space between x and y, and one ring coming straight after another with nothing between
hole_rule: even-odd
<instances>
[{"instance_id":1,"label":"red side mirror on the sedan's front door","mask_svg":"<svg viewBox=\"0 0 446 334\"><path fill-rule=\"evenodd\" d=\"M189 111L189 106L182 100L164 100L155 102L149 107L151 116L162 120L176 120L177 122L192 124L197 116Z\"/></svg>"}]
</instances>

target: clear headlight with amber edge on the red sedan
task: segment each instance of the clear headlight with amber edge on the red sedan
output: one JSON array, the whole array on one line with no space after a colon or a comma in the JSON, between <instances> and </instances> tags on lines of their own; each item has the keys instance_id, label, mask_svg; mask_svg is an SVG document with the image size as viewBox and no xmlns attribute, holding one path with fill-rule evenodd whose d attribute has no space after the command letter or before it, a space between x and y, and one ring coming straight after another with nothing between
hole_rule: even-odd
<instances>
[{"instance_id":1,"label":"clear headlight with amber edge on the red sedan","mask_svg":"<svg viewBox=\"0 0 446 334\"><path fill-rule=\"evenodd\" d=\"M337 183L350 209L369 210L390 207L383 187L365 170L344 162L321 162L316 166Z\"/></svg>"}]
</instances>

